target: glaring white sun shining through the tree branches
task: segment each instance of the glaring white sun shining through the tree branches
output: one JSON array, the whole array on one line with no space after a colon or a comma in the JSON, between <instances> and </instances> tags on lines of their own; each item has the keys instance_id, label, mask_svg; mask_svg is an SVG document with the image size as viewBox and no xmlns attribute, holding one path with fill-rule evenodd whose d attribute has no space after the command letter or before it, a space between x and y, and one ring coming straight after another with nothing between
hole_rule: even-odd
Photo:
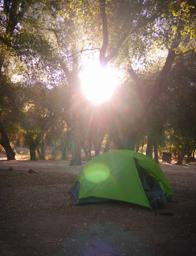
<instances>
[{"instance_id":1,"label":"glaring white sun shining through the tree branches","mask_svg":"<svg viewBox=\"0 0 196 256\"><path fill-rule=\"evenodd\" d=\"M109 100L118 84L115 70L110 67L101 68L99 64L90 62L86 62L79 78L84 95L94 104Z\"/></svg>"}]
</instances>

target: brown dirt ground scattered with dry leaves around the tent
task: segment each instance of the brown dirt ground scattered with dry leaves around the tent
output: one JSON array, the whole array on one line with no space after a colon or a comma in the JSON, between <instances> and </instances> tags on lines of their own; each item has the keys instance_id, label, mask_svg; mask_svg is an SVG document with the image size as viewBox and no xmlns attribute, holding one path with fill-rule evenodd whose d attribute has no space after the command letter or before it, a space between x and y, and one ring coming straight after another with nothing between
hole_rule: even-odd
<instances>
[{"instance_id":1,"label":"brown dirt ground scattered with dry leaves around the tent","mask_svg":"<svg viewBox=\"0 0 196 256\"><path fill-rule=\"evenodd\" d=\"M178 202L155 211L75 206L69 190L81 166L69 161L0 160L0 255L196 255L196 163L160 166Z\"/></svg>"}]
</instances>

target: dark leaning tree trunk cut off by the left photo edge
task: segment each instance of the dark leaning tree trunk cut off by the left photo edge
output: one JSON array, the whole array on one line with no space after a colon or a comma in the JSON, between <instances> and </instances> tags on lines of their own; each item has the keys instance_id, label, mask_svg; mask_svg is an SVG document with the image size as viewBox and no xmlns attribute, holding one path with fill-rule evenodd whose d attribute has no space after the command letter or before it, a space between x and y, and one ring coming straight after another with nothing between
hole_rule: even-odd
<instances>
[{"instance_id":1,"label":"dark leaning tree trunk cut off by the left photo edge","mask_svg":"<svg viewBox=\"0 0 196 256\"><path fill-rule=\"evenodd\" d=\"M0 144L2 145L2 147L6 151L7 160L16 160L15 159L15 153L12 150L12 147L9 143L9 138L6 134L6 131L3 127L3 125L1 125L1 124L0 124L0 133L1 133Z\"/></svg>"}]
</instances>

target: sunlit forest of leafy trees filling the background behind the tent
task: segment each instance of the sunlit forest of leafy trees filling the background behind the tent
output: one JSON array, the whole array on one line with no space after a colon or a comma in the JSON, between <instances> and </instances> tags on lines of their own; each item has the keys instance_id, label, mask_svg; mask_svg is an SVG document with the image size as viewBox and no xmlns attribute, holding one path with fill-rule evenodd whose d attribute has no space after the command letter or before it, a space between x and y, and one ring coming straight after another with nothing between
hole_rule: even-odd
<instances>
[{"instance_id":1,"label":"sunlit forest of leafy trees filling the background behind the tent","mask_svg":"<svg viewBox=\"0 0 196 256\"><path fill-rule=\"evenodd\" d=\"M112 149L194 160L195 20L192 0L1 1L1 151L37 160L50 147L70 165ZM105 102L82 90L85 59L117 73Z\"/></svg>"}]
</instances>

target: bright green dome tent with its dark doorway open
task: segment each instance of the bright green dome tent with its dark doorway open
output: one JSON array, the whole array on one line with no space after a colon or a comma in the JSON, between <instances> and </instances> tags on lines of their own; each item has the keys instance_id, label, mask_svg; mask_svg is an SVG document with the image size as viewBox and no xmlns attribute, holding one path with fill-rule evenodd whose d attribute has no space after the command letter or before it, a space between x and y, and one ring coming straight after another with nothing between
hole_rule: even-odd
<instances>
[{"instance_id":1,"label":"bright green dome tent with its dark doorway open","mask_svg":"<svg viewBox=\"0 0 196 256\"><path fill-rule=\"evenodd\" d=\"M150 157L131 150L114 150L90 160L71 190L76 204L120 200L152 208L173 191L160 166Z\"/></svg>"}]
</instances>

